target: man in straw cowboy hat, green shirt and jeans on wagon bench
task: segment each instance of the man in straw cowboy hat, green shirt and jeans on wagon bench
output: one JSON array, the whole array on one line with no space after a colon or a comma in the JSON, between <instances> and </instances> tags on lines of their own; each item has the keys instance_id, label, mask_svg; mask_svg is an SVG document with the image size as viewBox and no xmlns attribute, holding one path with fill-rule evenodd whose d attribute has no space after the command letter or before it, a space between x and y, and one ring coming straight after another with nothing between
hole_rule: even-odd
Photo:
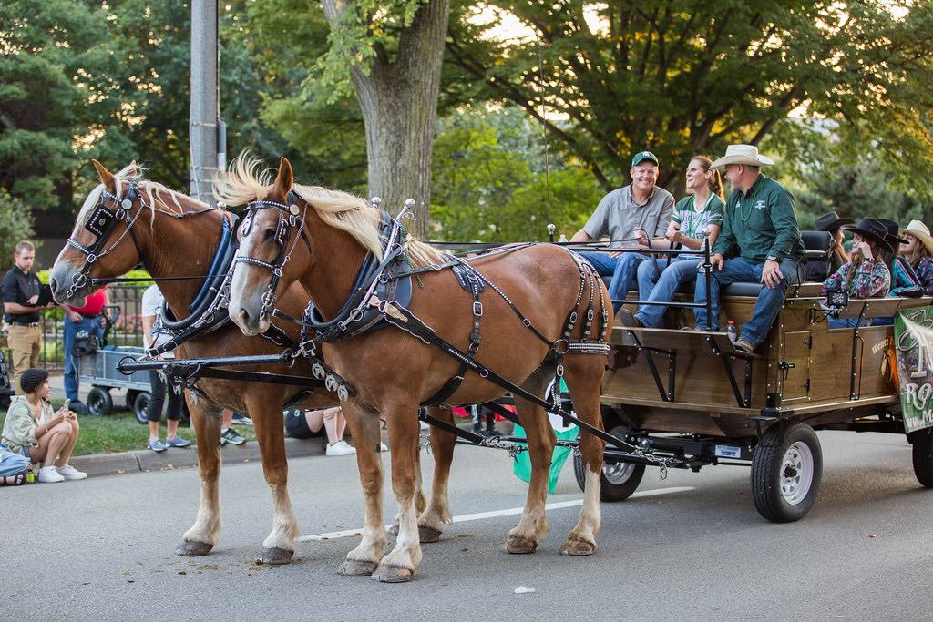
<instances>
[{"instance_id":1,"label":"man in straw cowboy hat, green shirt and jeans on wagon bench","mask_svg":"<svg viewBox=\"0 0 933 622\"><path fill-rule=\"evenodd\" d=\"M710 291L706 291L705 279L697 279L694 300L703 306L693 310L694 328L717 328L721 285L760 282L755 311L735 341L735 348L744 352L754 351L767 337L784 304L787 285L798 282L803 256L794 198L786 187L760 170L773 163L760 155L755 145L730 145L726 155L713 162L714 169L725 168L724 176L732 191L726 202L722 231L710 257L713 270ZM707 296L712 310L709 318L704 308Z\"/></svg>"}]
</instances>

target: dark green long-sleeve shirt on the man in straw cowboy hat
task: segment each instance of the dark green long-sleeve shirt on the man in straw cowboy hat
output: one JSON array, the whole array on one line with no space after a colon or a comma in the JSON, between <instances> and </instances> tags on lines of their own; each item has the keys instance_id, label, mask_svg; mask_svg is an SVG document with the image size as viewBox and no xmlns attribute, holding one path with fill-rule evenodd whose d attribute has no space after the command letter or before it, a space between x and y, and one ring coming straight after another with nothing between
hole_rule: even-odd
<instances>
[{"instance_id":1,"label":"dark green long-sleeve shirt on the man in straw cowboy hat","mask_svg":"<svg viewBox=\"0 0 933 622\"><path fill-rule=\"evenodd\" d=\"M759 175L748 191L732 190L714 254L741 256L760 264L803 256L801 231L794 214L794 197L773 179Z\"/></svg>"}]
</instances>

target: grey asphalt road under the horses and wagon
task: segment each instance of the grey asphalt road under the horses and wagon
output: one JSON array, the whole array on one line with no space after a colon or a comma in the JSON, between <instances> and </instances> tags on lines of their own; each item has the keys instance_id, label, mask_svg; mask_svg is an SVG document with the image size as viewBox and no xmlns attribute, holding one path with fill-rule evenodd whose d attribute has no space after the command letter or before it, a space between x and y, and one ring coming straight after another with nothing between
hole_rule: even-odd
<instances>
[{"instance_id":1,"label":"grey asphalt road under the horses and wagon","mask_svg":"<svg viewBox=\"0 0 933 622\"><path fill-rule=\"evenodd\" d=\"M557 553L577 506L550 510L550 535L532 556L501 549L516 516L481 518L455 523L425 546L408 585L335 574L357 537L301 542L287 567L252 563L271 517L255 463L226 468L225 532L198 560L173 553L196 513L193 470L3 489L0 612L155 620L929 617L933 491L915 481L903 436L820 438L823 490L800 522L759 518L745 468L672 472L665 481L648 471L643 496L603 505L592 558ZM303 535L362 524L352 458L298 459L291 470ZM458 448L451 488L457 515L524 500L508 456L491 449ZM580 497L565 468L550 503Z\"/></svg>"}]
</instances>

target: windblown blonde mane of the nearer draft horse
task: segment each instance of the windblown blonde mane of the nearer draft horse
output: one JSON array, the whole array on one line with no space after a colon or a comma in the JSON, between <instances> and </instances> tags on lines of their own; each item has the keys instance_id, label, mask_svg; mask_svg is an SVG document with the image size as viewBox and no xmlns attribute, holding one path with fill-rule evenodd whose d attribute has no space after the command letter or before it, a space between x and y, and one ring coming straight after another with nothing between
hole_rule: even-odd
<instances>
[{"instance_id":1,"label":"windblown blonde mane of the nearer draft horse","mask_svg":"<svg viewBox=\"0 0 933 622\"><path fill-rule=\"evenodd\" d=\"M244 151L230 162L228 172L216 181L214 194L217 200L229 205L263 200L272 188L271 177L269 170L263 169L262 160ZM369 205L368 200L327 187L294 184L293 189L314 208L328 226L349 233L360 246L382 260L383 241L379 237L381 215ZM421 268L446 261L443 253L411 236L405 242L405 250L408 251L411 265L414 267Z\"/></svg>"}]
</instances>

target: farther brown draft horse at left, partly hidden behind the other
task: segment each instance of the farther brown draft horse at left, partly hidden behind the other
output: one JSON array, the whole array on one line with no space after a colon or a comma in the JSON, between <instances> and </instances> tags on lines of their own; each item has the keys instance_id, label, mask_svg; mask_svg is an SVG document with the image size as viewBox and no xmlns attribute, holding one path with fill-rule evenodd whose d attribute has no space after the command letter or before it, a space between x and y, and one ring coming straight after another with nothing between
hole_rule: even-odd
<instances>
[{"instance_id":1,"label":"farther brown draft horse at left, partly hidden behind the other","mask_svg":"<svg viewBox=\"0 0 933 622\"><path fill-rule=\"evenodd\" d=\"M220 243L221 221L231 214L210 207L198 200L169 190L142 178L142 169L134 163L122 171L112 174L97 161L94 166L101 180L85 200L73 238L88 247L94 235L84 225L88 216L103 200L105 206L115 211L125 197L129 184L138 187L139 199L127 211L136 214L132 233L138 243L127 236L127 225L121 223L110 233L105 247L112 251L102 254L91 265L89 283L66 298L75 275L85 264L86 256L69 244L65 244L51 271L50 285L56 302L80 303L91 293L90 278L112 278L125 274L142 262L149 273L156 277L197 276L206 274ZM118 200L103 197L104 189L118 196ZM122 237L121 237L122 236ZM116 245L113 245L115 242ZM185 317L188 304L201 288L200 280L163 281L160 290L165 296L175 317ZM279 307L287 313L299 314L307 302L307 295L299 283L283 290ZM293 339L297 330L284 327ZM176 351L179 357L214 357L241 354L277 354L282 348L261 337L244 337L233 325L220 328L198 339L192 339ZM244 367L244 369L250 369ZM307 375L310 369L303 361L295 369L285 366L263 366L260 371L280 374L298 373ZM298 522L288 495L288 465L285 461L285 434L282 424L282 406L298 389L276 384L259 384L230 380L202 379L198 388L208 399L189 399L191 414L198 438L198 463L201 476L201 504L194 525L185 532L178 553L186 556L206 555L221 532L220 504L217 493L220 475L220 414L222 408L248 412L256 425L256 435L262 455L262 469L272 491L272 532L263 541L262 560L266 563L286 563L295 550ZM322 408L338 403L337 395L323 389L315 390L303 406Z\"/></svg>"}]
</instances>

